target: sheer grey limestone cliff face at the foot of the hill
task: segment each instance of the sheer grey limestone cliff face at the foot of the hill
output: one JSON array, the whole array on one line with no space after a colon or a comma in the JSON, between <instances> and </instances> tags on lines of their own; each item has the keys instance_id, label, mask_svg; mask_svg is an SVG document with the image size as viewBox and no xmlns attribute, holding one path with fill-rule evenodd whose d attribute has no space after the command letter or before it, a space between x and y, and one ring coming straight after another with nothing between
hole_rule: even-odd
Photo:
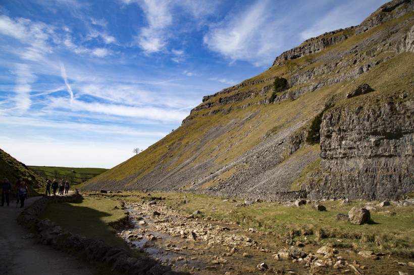
<instances>
[{"instance_id":1,"label":"sheer grey limestone cliff face at the foot of the hill","mask_svg":"<svg viewBox=\"0 0 414 275\"><path fill-rule=\"evenodd\" d=\"M413 115L412 101L327 111L321 182L306 187L308 196L396 200L412 192Z\"/></svg>"}]
</instances>

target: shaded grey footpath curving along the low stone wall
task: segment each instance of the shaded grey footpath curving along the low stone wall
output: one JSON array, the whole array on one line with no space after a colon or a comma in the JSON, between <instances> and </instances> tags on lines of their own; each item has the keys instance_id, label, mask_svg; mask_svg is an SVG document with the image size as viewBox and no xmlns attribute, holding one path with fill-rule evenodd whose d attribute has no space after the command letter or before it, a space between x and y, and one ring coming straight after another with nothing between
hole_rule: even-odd
<instances>
[{"instance_id":1,"label":"shaded grey footpath curving along the low stone wall","mask_svg":"<svg viewBox=\"0 0 414 275\"><path fill-rule=\"evenodd\" d=\"M24 208L40 197L29 197ZM92 270L74 256L55 250L52 246L37 243L26 229L17 223L24 208L16 200L10 206L0 207L0 274L62 274L86 275Z\"/></svg>"}]
</instances>

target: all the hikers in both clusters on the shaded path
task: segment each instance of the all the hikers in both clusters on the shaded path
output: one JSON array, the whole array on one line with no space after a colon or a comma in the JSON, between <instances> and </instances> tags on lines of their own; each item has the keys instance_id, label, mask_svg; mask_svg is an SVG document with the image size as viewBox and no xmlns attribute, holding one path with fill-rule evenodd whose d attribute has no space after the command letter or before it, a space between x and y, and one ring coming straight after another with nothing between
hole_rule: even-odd
<instances>
[{"instance_id":1,"label":"all the hikers in both clusters on the shaded path","mask_svg":"<svg viewBox=\"0 0 414 275\"><path fill-rule=\"evenodd\" d=\"M7 203L7 206L10 204L10 193L13 192L13 190L16 191L16 197L17 202L20 202L20 208L24 207L24 201L29 197L29 189L27 188L26 182L23 181L23 179L19 178L14 186L14 189L12 188L12 184L10 183L8 178L3 178L3 183L1 185L2 187L2 205L5 205L5 202ZM53 190L53 195L56 196L56 191L59 188L59 194L63 195L64 193L67 194L69 192L69 181L64 181L63 179L58 183L56 179L53 180L53 182L50 182L49 180L46 180L46 195L49 193L50 196L50 187ZM17 207L17 204L16 204Z\"/></svg>"}]
</instances>

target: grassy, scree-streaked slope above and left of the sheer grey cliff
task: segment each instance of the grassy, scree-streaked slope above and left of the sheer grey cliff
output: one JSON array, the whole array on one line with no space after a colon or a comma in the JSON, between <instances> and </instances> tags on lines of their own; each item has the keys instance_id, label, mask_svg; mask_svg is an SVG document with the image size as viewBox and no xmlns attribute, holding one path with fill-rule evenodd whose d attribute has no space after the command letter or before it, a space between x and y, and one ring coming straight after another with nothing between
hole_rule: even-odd
<instances>
[{"instance_id":1,"label":"grassy, scree-streaked slope above and left of the sheer grey cliff","mask_svg":"<svg viewBox=\"0 0 414 275\"><path fill-rule=\"evenodd\" d=\"M413 18L411 12L358 35L348 29L316 39L349 37L206 97L178 129L82 188L204 192L219 187L221 195L245 188L241 193L249 196L269 178L277 182L280 168L290 178L275 189L300 189L305 172L319 169L314 157L319 148L304 140L312 118L327 104L355 108L414 99L414 74L407 70L414 66L414 53L398 52ZM290 88L275 93L276 77L286 78ZM375 91L346 98L365 83ZM232 189L234 182L239 185Z\"/></svg>"}]
</instances>

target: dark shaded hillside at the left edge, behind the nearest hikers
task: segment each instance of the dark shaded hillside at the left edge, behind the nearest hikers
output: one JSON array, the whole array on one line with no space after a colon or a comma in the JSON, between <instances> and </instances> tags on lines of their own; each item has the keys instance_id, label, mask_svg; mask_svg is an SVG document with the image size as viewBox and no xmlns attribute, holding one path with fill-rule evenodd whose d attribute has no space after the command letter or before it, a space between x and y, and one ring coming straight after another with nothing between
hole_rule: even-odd
<instances>
[{"instance_id":1,"label":"dark shaded hillside at the left edge, behind the nearest hikers","mask_svg":"<svg viewBox=\"0 0 414 275\"><path fill-rule=\"evenodd\" d=\"M22 178L29 188L30 195L43 194L45 189L44 179L2 149L0 149L0 176L2 182L3 178L8 178L13 188L17 180Z\"/></svg>"}]
</instances>

